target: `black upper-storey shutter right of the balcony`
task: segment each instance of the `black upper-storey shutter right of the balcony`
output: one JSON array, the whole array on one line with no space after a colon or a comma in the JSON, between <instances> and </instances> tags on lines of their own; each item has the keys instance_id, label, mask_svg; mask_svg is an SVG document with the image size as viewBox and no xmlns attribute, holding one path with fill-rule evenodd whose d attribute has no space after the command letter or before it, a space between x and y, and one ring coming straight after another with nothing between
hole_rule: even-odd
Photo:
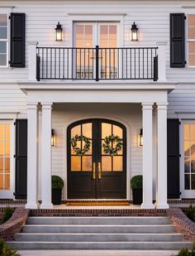
<instances>
[{"instance_id":1,"label":"black upper-storey shutter right of the balcony","mask_svg":"<svg viewBox=\"0 0 195 256\"><path fill-rule=\"evenodd\" d=\"M170 66L185 66L184 13L170 13Z\"/></svg>"}]
</instances>

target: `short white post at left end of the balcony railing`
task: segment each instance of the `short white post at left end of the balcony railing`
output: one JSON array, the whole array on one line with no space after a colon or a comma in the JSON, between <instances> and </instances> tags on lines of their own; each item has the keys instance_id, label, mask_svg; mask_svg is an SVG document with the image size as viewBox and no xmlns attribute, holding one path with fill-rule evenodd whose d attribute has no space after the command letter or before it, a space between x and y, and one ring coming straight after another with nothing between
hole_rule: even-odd
<instances>
[{"instance_id":1,"label":"short white post at left end of the balcony railing","mask_svg":"<svg viewBox=\"0 0 195 256\"><path fill-rule=\"evenodd\" d=\"M28 79L36 81L36 46L37 41L28 41L29 47L29 67L28 67Z\"/></svg>"}]
</instances>

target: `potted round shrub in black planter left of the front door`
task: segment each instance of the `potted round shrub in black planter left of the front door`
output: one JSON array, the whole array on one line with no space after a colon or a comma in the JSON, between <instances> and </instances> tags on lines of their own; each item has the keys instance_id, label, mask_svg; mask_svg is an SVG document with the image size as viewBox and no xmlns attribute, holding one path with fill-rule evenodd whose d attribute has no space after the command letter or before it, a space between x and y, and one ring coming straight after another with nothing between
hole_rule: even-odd
<instances>
[{"instance_id":1,"label":"potted round shrub in black planter left of the front door","mask_svg":"<svg viewBox=\"0 0 195 256\"><path fill-rule=\"evenodd\" d=\"M64 187L64 181L60 176L51 176L52 187L52 204L61 205L62 189Z\"/></svg>"}]
</instances>

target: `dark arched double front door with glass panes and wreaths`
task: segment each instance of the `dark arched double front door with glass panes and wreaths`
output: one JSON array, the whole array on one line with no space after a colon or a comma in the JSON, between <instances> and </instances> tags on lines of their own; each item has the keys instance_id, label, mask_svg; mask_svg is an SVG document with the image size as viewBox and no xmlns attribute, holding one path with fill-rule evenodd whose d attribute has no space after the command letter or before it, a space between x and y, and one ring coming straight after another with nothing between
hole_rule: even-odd
<instances>
[{"instance_id":1,"label":"dark arched double front door with glass panes and wreaths","mask_svg":"<svg viewBox=\"0 0 195 256\"><path fill-rule=\"evenodd\" d=\"M68 199L126 199L126 128L88 119L67 135Z\"/></svg>"}]
</instances>

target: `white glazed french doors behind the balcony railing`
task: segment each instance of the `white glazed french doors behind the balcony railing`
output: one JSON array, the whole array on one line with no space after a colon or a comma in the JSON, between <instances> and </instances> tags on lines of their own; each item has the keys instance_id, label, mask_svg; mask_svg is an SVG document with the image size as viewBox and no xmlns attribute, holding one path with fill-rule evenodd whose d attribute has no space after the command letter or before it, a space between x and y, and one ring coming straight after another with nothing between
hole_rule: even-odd
<instances>
[{"instance_id":1,"label":"white glazed french doors behind the balcony railing","mask_svg":"<svg viewBox=\"0 0 195 256\"><path fill-rule=\"evenodd\" d=\"M75 22L74 47L77 79L117 78L119 72L117 22ZM97 46L100 48L97 53ZM98 54L98 56L97 56ZM99 69L97 71L98 60Z\"/></svg>"}]
</instances>

